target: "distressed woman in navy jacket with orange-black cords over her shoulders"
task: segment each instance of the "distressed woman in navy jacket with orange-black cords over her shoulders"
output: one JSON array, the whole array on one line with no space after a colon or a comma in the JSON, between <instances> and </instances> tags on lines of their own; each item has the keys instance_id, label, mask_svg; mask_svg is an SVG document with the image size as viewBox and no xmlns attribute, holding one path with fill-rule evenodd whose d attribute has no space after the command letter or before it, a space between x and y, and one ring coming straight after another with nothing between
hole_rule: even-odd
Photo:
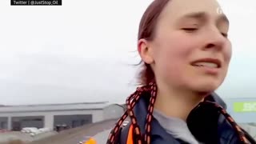
<instances>
[{"instance_id":1,"label":"distressed woman in navy jacket with orange-black cords over her shoulders","mask_svg":"<svg viewBox=\"0 0 256 144\"><path fill-rule=\"evenodd\" d=\"M230 63L228 30L216 0L154 0L138 31L142 86L107 143L256 143L214 94Z\"/></svg>"}]
</instances>

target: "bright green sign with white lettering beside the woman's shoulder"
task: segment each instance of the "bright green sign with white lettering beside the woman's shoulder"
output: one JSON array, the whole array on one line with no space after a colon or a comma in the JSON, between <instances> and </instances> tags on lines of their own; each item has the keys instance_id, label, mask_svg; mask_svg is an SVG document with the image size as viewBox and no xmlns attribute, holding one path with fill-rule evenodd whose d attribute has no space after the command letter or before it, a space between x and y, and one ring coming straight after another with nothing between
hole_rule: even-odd
<instances>
[{"instance_id":1,"label":"bright green sign with white lettering beside the woman's shoulder","mask_svg":"<svg viewBox=\"0 0 256 144\"><path fill-rule=\"evenodd\" d=\"M235 112L256 112L256 102L234 102Z\"/></svg>"}]
</instances>

